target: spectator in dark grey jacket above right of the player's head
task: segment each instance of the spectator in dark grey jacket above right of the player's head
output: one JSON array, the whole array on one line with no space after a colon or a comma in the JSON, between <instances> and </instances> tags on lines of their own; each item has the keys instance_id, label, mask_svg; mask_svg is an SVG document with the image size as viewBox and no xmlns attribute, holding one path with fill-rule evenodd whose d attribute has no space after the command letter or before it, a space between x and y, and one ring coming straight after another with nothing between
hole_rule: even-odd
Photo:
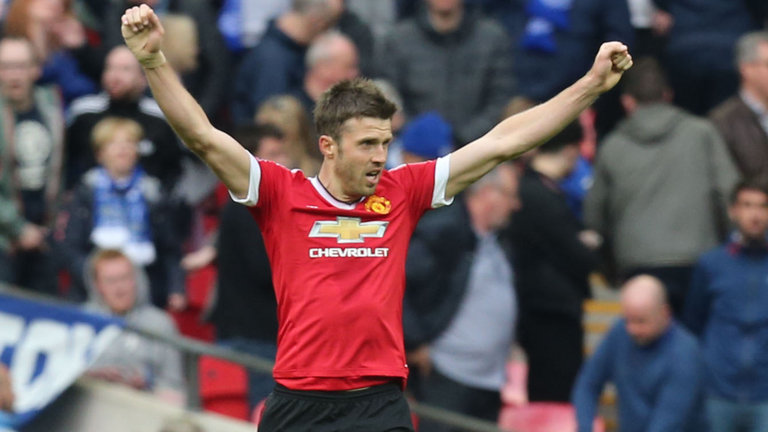
<instances>
[{"instance_id":1,"label":"spectator in dark grey jacket above right of the player's head","mask_svg":"<svg viewBox=\"0 0 768 432\"><path fill-rule=\"evenodd\" d=\"M426 4L392 30L380 70L403 96L407 116L437 111L465 144L490 130L512 96L509 40L461 0Z\"/></svg>"}]
</instances>

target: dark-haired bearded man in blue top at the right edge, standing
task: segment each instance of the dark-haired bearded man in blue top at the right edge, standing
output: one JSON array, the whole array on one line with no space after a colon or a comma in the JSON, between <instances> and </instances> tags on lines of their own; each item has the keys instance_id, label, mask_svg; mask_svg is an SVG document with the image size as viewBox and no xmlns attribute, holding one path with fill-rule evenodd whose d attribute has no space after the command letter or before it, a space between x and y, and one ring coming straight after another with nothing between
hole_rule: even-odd
<instances>
[{"instance_id":1,"label":"dark-haired bearded man in blue top at the right edge, standing","mask_svg":"<svg viewBox=\"0 0 768 432\"><path fill-rule=\"evenodd\" d=\"M684 322L706 365L706 412L713 431L768 430L768 189L739 183L730 241L694 268Z\"/></svg>"}]
</instances>

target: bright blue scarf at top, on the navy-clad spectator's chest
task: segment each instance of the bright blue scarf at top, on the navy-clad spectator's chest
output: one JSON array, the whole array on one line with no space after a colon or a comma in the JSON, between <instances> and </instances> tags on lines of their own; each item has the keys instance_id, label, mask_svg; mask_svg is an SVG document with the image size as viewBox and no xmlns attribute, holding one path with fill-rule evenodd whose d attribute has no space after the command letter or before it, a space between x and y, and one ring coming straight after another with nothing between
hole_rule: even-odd
<instances>
[{"instance_id":1,"label":"bright blue scarf at top, on the navy-clad spectator's chest","mask_svg":"<svg viewBox=\"0 0 768 432\"><path fill-rule=\"evenodd\" d=\"M555 31L571 27L572 4L573 0L528 0L525 12L529 18L520 42L523 48L544 53L557 51Z\"/></svg>"}]
</instances>

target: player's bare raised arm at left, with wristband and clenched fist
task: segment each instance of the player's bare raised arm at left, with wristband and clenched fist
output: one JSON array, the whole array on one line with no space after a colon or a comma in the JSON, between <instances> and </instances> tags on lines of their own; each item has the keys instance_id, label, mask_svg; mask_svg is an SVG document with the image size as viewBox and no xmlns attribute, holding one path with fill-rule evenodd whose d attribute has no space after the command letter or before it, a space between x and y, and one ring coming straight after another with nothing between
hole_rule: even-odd
<instances>
[{"instance_id":1,"label":"player's bare raised arm at left, with wristband and clenched fist","mask_svg":"<svg viewBox=\"0 0 768 432\"><path fill-rule=\"evenodd\" d=\"M121 30L125 44L144 68L152 94L168 123L230 191L236 196L245 196L250 174L248 152L211 125L203 109L165 61L160 51L164 30L155 12L147 5L126 10Z\"/></svg>"}]
</instances>

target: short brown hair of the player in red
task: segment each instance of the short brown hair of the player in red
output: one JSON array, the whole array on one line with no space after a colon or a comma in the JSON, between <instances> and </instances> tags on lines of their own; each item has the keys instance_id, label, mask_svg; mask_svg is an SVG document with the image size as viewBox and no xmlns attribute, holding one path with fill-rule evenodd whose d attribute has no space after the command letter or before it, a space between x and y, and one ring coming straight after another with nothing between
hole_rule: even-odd
<instances>
[{"instance_id":1,"label":"short brown hair of the player in red","mask_svg":"<svg viewBox=\"0 0 768 432\"><path fill-rule=\"evenodd\" d=\"M320 97L315 107L315 130L338 140L341 126L351 118L391 119L397 111L378 86L365 78L344 80Z\"/></svg>"}]
</instances>

